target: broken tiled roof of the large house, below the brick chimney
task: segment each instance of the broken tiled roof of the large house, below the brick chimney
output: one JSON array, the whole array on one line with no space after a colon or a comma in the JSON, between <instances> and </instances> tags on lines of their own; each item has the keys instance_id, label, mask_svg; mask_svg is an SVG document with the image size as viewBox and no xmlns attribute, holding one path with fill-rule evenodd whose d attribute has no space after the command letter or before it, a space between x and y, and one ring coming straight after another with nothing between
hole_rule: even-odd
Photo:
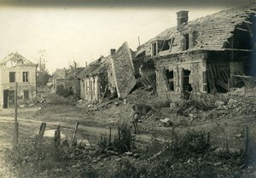
<instances>
[{"instance_id":1,"label":"broken tiled roof of the large house, below the brick chimney","mask_svg":"<svg viewBox=\"0 0 256 178\"><path fill-rule=\"evenodd\" d=\"M159 55L180 53L183 51L181 43L186 32L193 36L193 46L189 47L189 50L223 50L226 44L229 43L229 38L232 37L236 27L241 25L250 26L252 24L250 17L255 13L256 4L251 3L189 21L184 23L179 29L176 26L168 28L138 47L137 56L143 52L146 52L146 55L150 54L151 43L154 41L160 40L163 42L172 38L172 49L163 51ZM250 31L250 29L241 30Z\"/></svg>"}]
</instances>

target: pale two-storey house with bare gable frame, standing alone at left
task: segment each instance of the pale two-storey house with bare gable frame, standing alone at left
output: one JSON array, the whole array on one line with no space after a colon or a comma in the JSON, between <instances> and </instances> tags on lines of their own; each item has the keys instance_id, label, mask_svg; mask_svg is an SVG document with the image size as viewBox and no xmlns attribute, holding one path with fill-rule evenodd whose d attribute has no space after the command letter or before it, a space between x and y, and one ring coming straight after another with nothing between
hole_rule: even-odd
<instances>
[{"instance_id":1,"label":"pale two-storey house with bare gable frame, standing alone at left","mask_svg":"<svg viewBox=\"0 0 256 178\"><path fill-rule=\"evenodd\" d=\"M15 106L15 83L18 83L18 103L32 102L37 93L37 65L18 53L0 61L0 107Z\"/></svg>"}]
</instances>

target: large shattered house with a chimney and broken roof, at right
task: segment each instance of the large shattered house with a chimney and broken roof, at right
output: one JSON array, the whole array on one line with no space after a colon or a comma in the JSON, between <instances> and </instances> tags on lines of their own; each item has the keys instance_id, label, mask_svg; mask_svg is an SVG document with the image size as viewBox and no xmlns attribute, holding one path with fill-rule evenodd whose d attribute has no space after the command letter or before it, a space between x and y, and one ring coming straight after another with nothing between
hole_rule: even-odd
<instances>
[{"instance_id":1,"label":"large shattered house with a chimney and broken roof, at right","mask_svg":"<svg viewBox=\"0 0 256 178\"><path fill-rule=\"evenodd\" d=\"M188 11L178 12L176 27L137 50L137 59L154 60L157 94L227 92L244 84L236 77L255 75L255 10L251 4L189 22Z\"/></svg>"}]
</instances>

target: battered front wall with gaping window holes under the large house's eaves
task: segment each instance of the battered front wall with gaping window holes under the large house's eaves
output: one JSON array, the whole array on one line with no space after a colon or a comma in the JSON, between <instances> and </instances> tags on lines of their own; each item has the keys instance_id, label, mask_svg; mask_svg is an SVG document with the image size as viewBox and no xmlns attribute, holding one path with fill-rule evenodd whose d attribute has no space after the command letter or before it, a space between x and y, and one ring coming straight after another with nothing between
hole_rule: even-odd
<instances>
[{"instance_id":1,"label":"battered front wall with gaping window holes under the large house's eaves","mask_svg":"<svg viewBox=\"0 0 256 178\"><path fill-rule=\"evenodd\" d=\"M198 94L207 93L203 88L206 83L203 77L207 69L206 59L207 54L201 52L156 60L157 94L163 98L167 95L167 100L177 100L191 91ZM166 72L173 72L173 78L168 78ZM173 88L170 83L173 83Z\"/></svg>"}]
</instances>

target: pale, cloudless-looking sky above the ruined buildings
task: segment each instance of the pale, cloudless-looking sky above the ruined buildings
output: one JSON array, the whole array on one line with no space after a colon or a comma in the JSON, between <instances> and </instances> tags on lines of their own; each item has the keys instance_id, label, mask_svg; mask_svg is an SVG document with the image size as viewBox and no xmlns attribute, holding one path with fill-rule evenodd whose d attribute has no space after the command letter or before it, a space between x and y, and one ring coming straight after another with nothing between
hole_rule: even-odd
<instances>
[{"instance_id":1,"label":"pale, cloudless-looking sky above the ruined buildings","mask_svg":"<svg viewBox=\"0 0 256 178\"><path fill-rule=\"evenodd\" d=\"M45 49L49 72L68 67L73 60L84 66L85 62L109 55L110 49L118 49L125 41L136 50L138 36L142 44L166 28L176 26L179 10L189 10L189 20L195 20L231 6L172 6L170 3L160 7L154 3L114 6L113 1L102 6L64 3L37 6L37 3L12 2L5 4L0 0L0 59L18 52L33 61L38 51Z\"/></svg>"}]
</instances>

